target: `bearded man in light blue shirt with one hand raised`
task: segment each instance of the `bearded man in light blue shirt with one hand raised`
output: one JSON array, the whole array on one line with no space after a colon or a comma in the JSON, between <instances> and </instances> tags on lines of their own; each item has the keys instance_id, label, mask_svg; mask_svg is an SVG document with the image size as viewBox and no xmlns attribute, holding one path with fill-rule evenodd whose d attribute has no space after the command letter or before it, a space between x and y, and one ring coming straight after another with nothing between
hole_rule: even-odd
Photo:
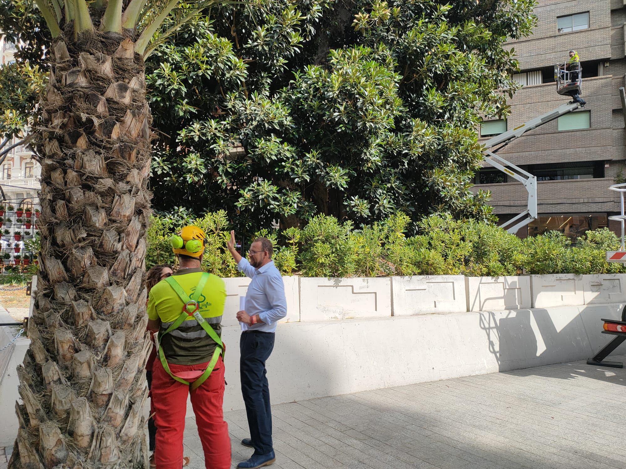
<instances>
[{"instance_id":1,"label":"bearded man in light blue shirt with one hand raised","mask_svg":"<svg viewBox=\"0 0 626 469\"><path fill-rule=\"evenodd\" d=\"M274 349L276 324L287 315L287 300L282 276L272 261L272 241L267 238L254 240L248 252L249 262L235 249L235 232L231 231L228 251L239 270L252 279L245 295L245 310L237 313L237 320L243 323L239 368L250 427L250 438L244 438L242 445L254 448L254 454L237 467L257 469L276 460L265 361Z\"/></svg>"}]
</instances>

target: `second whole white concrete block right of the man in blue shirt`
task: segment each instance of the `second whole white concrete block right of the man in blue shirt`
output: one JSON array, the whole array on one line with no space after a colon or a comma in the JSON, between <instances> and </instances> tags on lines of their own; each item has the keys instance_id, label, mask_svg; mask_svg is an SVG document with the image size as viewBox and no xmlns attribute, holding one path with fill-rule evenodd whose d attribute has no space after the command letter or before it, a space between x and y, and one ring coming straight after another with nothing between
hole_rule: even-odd
<instances>
[{"instance_id":1,"label":"second whole white concrete block right of the man in blue shirt","mask_svg":"<svg viewBox=\"0 0 626 469\"><path fill-rule=\"evenodd\" d=\"M467 311L462 275L391 277L391 285L394 316Z\"/></svg>"}]
</instances>

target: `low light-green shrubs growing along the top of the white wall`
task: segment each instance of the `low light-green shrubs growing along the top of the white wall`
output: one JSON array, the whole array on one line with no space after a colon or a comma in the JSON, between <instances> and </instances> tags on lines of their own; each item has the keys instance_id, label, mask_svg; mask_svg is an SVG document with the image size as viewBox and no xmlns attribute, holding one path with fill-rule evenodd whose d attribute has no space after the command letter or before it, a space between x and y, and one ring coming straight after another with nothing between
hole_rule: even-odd
<instances>
[{"instance_id":1,"label":"low light-green shrubs growing along the top of the white wall","mask_svg":"<svg viewBox=\"0 0 626 469\"><path fill-rule=\"evenodd\" d=\"M225 211L199 219L181 214L153 217L148 233L148 266L173 263L168 238L184 223L207 231L208 248L203 260L215 275L237 276L226 250L228 223ZM418 223L416 236L406 236L411 221L396 213L371 226L354 228L351 221L317 215L302 229L260 231L274 245L274 260L283 275L351 277L386 275L500 276L550 273L617 273L625 266L607 263L605 253L620 246L607 228L588 231L572 245L562 233L550 231L520 240L505 230L480 221L456 221L433 215Z\"/></svg>"}]
</instances>

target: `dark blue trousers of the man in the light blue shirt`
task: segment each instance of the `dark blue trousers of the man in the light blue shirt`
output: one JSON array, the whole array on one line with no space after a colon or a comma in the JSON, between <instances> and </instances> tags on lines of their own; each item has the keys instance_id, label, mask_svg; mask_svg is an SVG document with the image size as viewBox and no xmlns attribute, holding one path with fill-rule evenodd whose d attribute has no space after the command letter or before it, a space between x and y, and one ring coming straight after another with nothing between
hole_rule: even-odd
<instances>
[{"instance_id":1,"label":"dark blue trousers of the man in the light blue shirt","mask_svg":"<svg viewBox=\"0 0 626 469\"><path fill-rule=\"evenodd\" d=\"M243 332L239 341L241 392L255 455L272 451L272 409L267 385L267 360L274 349L273 332Z\"/></svg>"}]
</instances>

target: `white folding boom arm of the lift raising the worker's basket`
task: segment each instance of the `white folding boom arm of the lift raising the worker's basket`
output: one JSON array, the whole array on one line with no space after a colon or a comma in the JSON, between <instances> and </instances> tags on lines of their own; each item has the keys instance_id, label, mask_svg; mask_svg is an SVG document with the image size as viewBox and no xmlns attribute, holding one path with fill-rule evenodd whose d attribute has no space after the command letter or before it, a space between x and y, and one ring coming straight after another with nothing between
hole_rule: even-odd
<instances>
[{"instance_id":1,"label":"white folding boom arm of the lift raising the worker's basket","mask_svg":"<svg viewBox=\"0 0 626 469\"><path fill-rule=\"evenodd\" d=\"M515 216L500 225L502 228L509 226L509 228L506 228L506 231L509 233L515 235L518 229L522 226L526 226L528 223L537 218L537 178L523 169L518 168L515 164L509 163L506 159L500 158L500 156L491 152L490 149L500 144L508 144L510 141L521 137L526 132L536 129L540 125L553 121L554 119L557 119L564 114L571 113L581 107L580 103L563 104L557 109L553 109L552 111L543 114L543 116L531 119L525 124L521 124L521 126L517 126L515 129L508 130L500 135L496 135L485 142L484 159L486 163L491 164L491 166L496 169L500 169L500 171L508 174L516 181L520 181L520 183L524 184L524 188L528 192L528 208L526 208L526 210L518 216ZM511 226L511 224L513 226Z\"/></svg>"}]
</instances>

